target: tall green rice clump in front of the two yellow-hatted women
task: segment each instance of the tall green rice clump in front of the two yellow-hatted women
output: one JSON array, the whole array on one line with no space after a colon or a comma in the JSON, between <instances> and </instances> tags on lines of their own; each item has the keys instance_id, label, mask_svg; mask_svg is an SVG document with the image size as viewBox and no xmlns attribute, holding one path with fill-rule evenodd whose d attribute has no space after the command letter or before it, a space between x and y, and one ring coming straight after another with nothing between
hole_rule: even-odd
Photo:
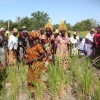
<instances>
[{"instance_id":1,"label":"tall green rice clump in front of the two yellow-hatted women","mask_svg":"<svg viewBox=\"0 0 100 100\"><path fill-rule=\"evenodd\" d=\"M47 76L47 85L53 100L58 99L58 91L59 91L59 75L58 75L58 66L49 65L49 72Z\"/></svg>"}]
</instances>

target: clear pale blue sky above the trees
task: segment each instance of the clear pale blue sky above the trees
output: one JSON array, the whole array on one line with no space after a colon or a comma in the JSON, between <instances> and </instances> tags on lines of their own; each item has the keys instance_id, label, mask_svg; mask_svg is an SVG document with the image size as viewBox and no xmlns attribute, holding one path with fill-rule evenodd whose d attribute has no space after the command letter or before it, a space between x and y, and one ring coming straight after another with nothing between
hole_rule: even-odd
<instances>
[{"instance_id":1,"label":"clear pale blue sky above the trees","mask_svg":"<svg viewBox=\"0 0 100 100\"><path fill-rule=\"evenodd\" d=\"M0 20L15 22L37 11L47 13L52 24L62 19L71 25L91 18L100 22L100 0L0 0Z\"/></svg>"}]
</instances>

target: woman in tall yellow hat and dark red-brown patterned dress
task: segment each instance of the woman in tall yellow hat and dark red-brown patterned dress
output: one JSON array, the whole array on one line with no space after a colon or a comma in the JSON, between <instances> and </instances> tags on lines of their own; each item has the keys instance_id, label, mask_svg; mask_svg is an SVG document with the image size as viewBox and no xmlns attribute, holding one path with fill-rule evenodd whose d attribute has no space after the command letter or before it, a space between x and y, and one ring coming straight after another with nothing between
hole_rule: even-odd
<instances>
[{"instance_id":1,"label":"woman in tall yellow hat and dark red-brown patterned dress","mask_svg":"<svg viewBox=\"0 0 100 100\"><path fill-rule=\"evenodd\" d=\"M53 62L54 58L54 35L53 33L53 26L51 24L52 20L49 20L49 22L45 25L45 36L44 36L44 50L46 57L44 58L45 67L47 68L48 64L50 62Z\"/></svg>"}]
</instances>

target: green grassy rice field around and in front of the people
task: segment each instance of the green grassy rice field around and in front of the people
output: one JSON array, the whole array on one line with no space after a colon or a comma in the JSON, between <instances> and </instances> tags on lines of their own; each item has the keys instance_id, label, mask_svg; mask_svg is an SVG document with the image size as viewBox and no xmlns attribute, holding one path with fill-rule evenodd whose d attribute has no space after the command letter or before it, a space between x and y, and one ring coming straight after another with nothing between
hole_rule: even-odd
<instances>
[{"instance_id":1,"label":"green grassy rice field around and in front of the people","mask_svg":"<svg viewBox=\"0 0 100 100\"><path fill-rule=\"evenodd\" d=\"M88 32L80 32L85 36ZM100 100L100 70L90 65L90 59L68 58L68 66L55 59L55 65L35 82L35 97L27 87L28 66L18 63L0 71L0 100ZM45 80L45 81L44 81Z\"/></svg>"}]
</instances>

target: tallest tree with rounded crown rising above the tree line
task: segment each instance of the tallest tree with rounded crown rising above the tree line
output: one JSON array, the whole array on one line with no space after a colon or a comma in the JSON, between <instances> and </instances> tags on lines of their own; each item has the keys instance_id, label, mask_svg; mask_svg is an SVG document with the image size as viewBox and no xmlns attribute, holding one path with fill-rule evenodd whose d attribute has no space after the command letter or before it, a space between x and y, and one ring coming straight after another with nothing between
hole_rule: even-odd
<instances>
[{"instance_id":1,"label":"tallest tree with rounded crown rising above the tree line","mask_svg":"<svg viewBox=\"0 0 100 100\"><path fill-rule=\"evenodd\" d=\"M34 29L44 28L46 22L50 19L47 13L44 12L34 12L31 14L33 20Z\"/></svg>"}]
</instances>

